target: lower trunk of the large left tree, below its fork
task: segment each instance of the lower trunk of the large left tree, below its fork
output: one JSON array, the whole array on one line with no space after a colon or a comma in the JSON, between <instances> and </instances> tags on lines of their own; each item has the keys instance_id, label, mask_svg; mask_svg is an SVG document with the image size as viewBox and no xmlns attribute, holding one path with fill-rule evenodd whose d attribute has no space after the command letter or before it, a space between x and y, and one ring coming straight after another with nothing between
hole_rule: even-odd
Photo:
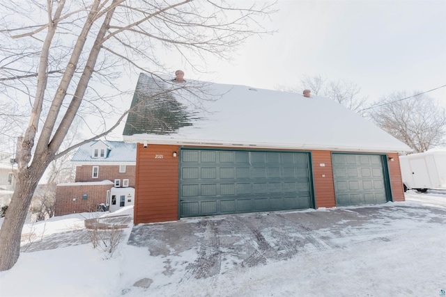
<instances>
[{"instance_id":1,"label":"lower trunk of the large left tree, below its fork","mask_svg":"<svg viewBox=\"0 0 446 297\"><path fill-rule=\"evenodd\" d=\"M20 255L20 237L26 214L44 170L25 168L19 172L16 188L0 229L0 271L14 266Z\"/></svg>"}]
</instances>

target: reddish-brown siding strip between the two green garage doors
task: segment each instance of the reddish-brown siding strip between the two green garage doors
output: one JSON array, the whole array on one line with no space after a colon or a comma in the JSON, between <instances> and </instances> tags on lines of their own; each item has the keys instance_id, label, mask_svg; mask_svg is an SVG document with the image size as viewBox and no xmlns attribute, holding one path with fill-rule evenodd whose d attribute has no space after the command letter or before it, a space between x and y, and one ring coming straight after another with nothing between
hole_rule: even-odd
<instances>
[{"instance_id":1,"label":"reddish-brown siding strip between the two green garage doors","mask_svg":"<svg viewBox=\"0 0 446 297\"><path fill-rule=\"evenodd\" d=\"M326 150L312 151L312 163L316 208L335 207L332 152ZM325 166L321 166L321 164Z\"/></svg>"}]
</instances>

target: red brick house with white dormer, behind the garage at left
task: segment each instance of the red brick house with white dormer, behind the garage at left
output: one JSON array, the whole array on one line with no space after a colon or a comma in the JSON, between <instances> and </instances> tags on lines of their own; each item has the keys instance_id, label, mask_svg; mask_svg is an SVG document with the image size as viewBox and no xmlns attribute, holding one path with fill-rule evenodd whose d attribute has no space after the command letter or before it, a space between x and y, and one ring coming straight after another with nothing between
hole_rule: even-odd
<instances>
[{"instance_id":1,"label":"red brick house with white dormer, behind the garage at left","mask_svg":"<svg viewBox=\"0 0 446 297\"><path fill-rule=\"evenodd\" d=\"M92 141L79 147L71 159L76 164L74 183L58 184L55 216L109 211L134 204L136 145L122 141Z\"/></svg>"}]
</instances>

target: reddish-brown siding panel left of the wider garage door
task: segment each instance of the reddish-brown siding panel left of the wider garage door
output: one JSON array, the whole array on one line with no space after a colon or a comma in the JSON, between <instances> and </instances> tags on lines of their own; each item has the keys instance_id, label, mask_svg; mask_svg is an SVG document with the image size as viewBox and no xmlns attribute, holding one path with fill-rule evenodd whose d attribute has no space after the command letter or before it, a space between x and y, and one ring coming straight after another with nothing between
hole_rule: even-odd
<instances>
[{"instance_id":1,"label":"reddish-brown siding panel left of the wider garage door","mask_svg":"<svg viewBox=\"0 0 446 297\"><path fill-rule=\"evenodd\" d=\"M177 145L137 144L135 224L178 220L178 157Z\"/></svg>"}]
</instances>

